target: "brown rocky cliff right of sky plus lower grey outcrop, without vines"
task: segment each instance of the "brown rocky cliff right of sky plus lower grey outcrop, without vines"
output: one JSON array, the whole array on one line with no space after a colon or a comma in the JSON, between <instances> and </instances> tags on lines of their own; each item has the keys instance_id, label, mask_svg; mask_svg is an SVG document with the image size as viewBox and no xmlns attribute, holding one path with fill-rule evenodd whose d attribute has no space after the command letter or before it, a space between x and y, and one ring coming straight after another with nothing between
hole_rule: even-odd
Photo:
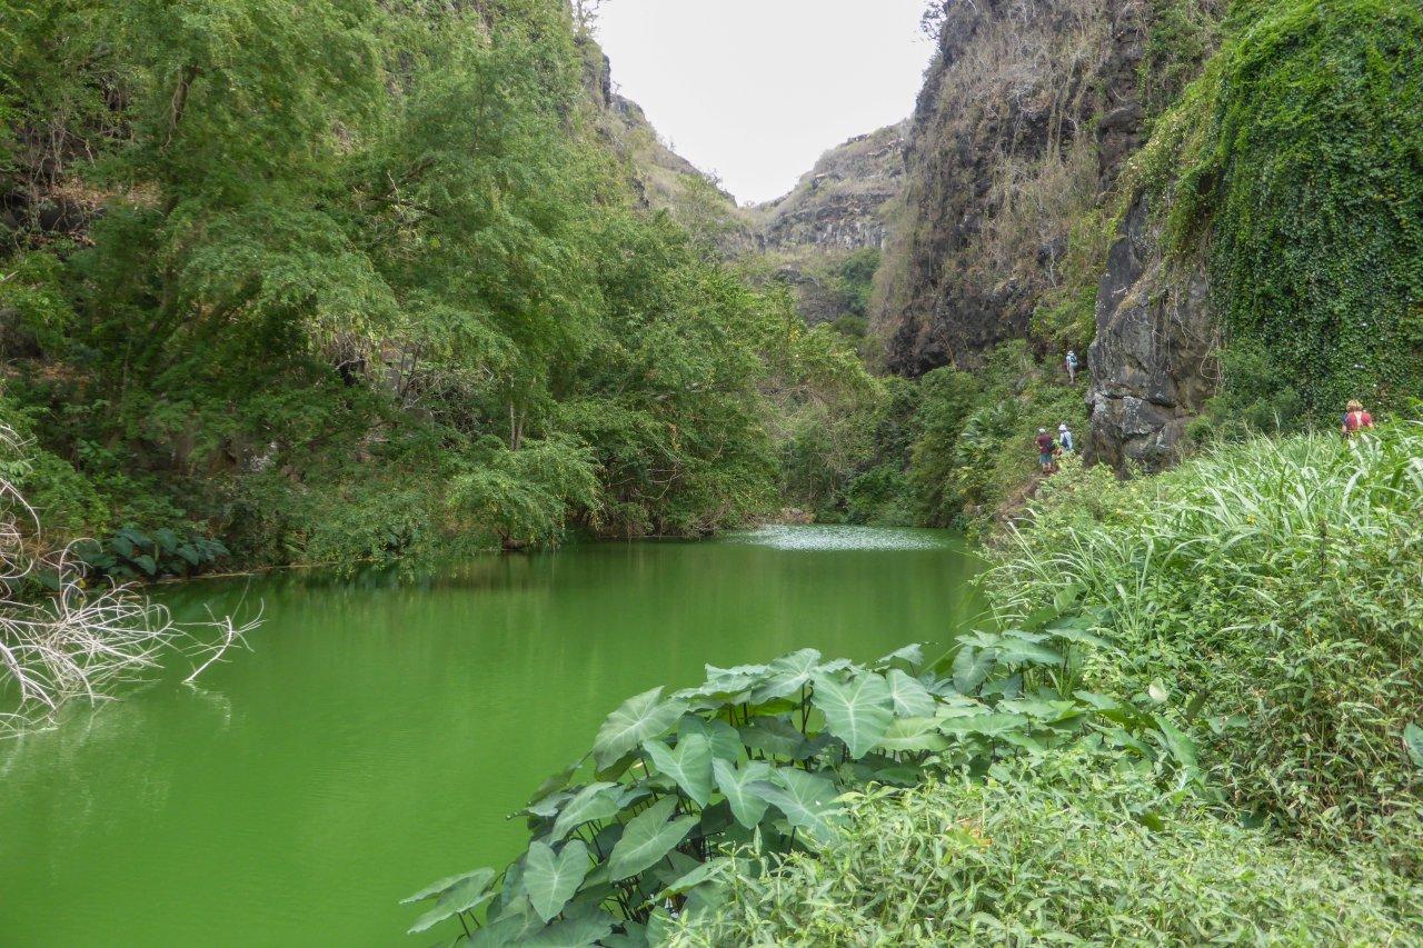
<instances>
[{"instance_id":1,"label":"brown rocky cliff right of sky plus lower grey outcrop, without vines","mask_svg":"<svg viewBox=\"0 0 1423 948\"><path fill-rule=\"evenodd\" d=\"M1215 7L942 4L875 302L892 370L970 369L1023 337L1056 359L1096 330L1097 455L1170 458L1214 379L1205 276L1165 266L1144 202L1117 191L1153 114L1210 54ZM1175 33L1153 33L1167 14Z\"/></svg>"}]
</instances>

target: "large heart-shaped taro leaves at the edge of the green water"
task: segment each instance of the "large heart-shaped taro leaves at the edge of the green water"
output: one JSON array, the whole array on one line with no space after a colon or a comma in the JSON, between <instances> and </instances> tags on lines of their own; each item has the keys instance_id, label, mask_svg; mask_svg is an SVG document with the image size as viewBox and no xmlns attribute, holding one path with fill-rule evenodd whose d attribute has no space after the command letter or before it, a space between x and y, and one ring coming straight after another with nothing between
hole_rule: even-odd
<instances>
[{"instance_id":1,"label":"large heart-shaped taro leaves at the edge of the green water","mask_svg":"<svg viewBox=\"0 0 1423 948\"><path fill-rule=\"evenodd\" d=\"M676 917L714 911L729 865L758 873L832 841L842 794L939 773L982 779L1064 744L1113 752L1200 783L1190 740L1164 717L1066 683L1079 648L1057 622L978 632L926 663L911 645L872 665L801 649L768 665L707 666L613 710L583 759L541 786L528 850L411 895L411 932L460 925L471 945L659 944ZM575 779L576 777L576 779Z\"/></svg>"}]
</instances>

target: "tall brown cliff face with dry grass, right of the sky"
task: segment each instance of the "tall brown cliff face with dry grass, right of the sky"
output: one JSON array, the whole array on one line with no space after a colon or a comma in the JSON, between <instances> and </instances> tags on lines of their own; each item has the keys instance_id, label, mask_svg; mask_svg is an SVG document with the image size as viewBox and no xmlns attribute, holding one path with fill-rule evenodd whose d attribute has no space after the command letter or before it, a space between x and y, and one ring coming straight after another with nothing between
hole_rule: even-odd
<instances>
[{"instance_id":1,"label":"tall brown cliff face with dry grass, right of the sky","mask_svg":"<svg viewBox=\"0 0 1423 948\"><path fill-rule=\"evenodd\" d=\"M1073 222L1140 131L1120 101L1140 58L1128 0L979 0L942 16L878 307L888 364L909 374L970 367L1027 335Z\"/></svg>"}]
</instances>

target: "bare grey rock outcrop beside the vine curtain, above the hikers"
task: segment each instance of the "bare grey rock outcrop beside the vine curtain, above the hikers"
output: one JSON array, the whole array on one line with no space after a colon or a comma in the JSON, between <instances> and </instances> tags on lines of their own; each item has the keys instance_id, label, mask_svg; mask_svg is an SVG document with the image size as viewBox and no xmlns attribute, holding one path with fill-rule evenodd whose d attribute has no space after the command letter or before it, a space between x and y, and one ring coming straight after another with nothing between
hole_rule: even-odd
<instances>
[{"instance_id":1,"label":"bare grey rock outcrop beside the vine curtain, above the hikers","mask_svg":"<svg viewBox=\"0 0 1423 948\"><path fill-rule=\"evenodd\" d=\"M1187 424L1215 387L1217 330L1205 268L1170 265L1144 199L1107 258L1097 293L1097 337L1087 352L1089 457L1160 470L1175 460Z\"/></svg>"}]
</instances>

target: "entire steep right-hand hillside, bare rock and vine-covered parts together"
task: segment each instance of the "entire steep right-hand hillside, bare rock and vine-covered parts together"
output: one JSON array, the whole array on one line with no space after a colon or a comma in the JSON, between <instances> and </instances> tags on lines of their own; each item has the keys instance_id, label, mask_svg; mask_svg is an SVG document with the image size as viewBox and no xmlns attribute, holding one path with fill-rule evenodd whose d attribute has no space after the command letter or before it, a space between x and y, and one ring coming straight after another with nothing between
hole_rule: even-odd
<instances>
[{"instance_id":1,"label":"entire steep right-hand hillside, bare rock and vine-covered parts together","mask_svg":"<svg viewBox=\"0 0 1423 948\"><path fill-rule=\"evenodd\" d=\"M1353 397L1405 407L1423 384L1420 10L943 3L878 283L891 369L1091 343L1089 448L1116 467Z\"/></svg>"}]
</instances>

